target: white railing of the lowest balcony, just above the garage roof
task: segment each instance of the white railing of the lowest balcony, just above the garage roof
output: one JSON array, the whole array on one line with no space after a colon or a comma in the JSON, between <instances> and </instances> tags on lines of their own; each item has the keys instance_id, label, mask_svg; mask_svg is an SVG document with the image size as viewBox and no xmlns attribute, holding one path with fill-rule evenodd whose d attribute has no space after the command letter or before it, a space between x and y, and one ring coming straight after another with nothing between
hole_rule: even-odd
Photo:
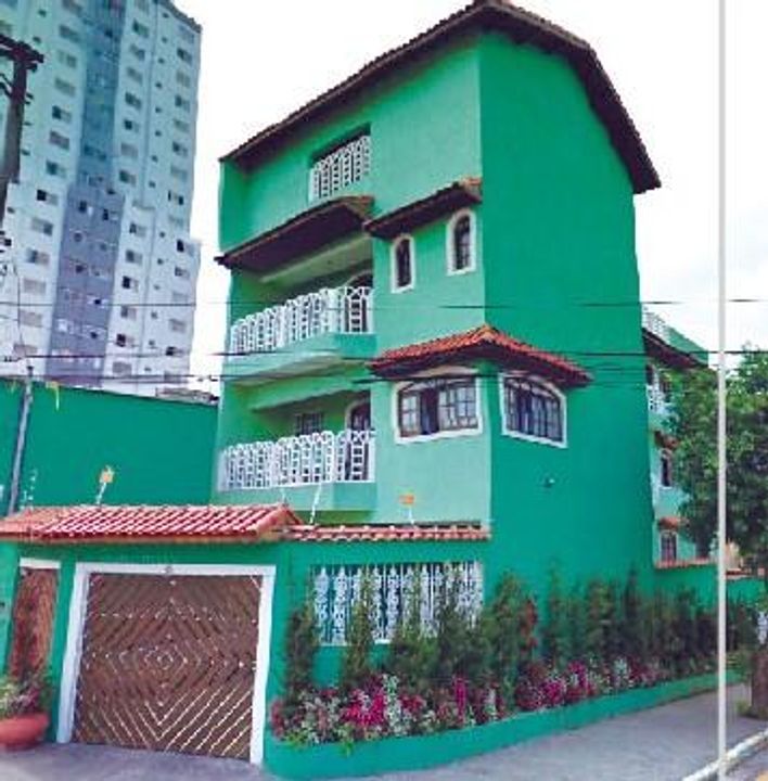
<instances>
[{"instance_id":1,"label":"white railing of the lowest balcony, just above the garage roof","mask_svg":"<svg viewBox=\"0 0 768 781\"><path fill-rule=\"evenodd\" d=\"M372 431L347 430L232 445L219 457L219 490L370 483L373 439Z\"/></svg>"}]
</instances>

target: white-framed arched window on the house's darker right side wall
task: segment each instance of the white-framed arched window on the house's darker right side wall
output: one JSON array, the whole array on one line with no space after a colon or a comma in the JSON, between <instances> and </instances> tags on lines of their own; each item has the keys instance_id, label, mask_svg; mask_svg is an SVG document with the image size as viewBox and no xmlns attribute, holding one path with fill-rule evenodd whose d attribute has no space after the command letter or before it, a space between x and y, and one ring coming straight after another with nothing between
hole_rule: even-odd
<instances>
[{"instance_id":1,"label":"white-framed arched window on the house's darker right side wall","mask_svg":"<svg viewBox=\"0 0 768 781\"><path fill-rule=\"evenodd\" d=\"M504 433L523 439L565 444L565 398L528 376L502 379Z\"/></svg>"}]
</instances>

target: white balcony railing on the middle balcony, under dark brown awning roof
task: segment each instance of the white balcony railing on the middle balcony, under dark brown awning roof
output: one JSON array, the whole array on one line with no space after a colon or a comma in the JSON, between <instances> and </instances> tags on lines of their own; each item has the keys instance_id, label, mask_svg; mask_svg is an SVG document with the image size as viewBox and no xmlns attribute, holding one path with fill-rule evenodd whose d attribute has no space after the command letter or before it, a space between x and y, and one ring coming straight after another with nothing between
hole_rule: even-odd
<instances>
[{"instance_id":1,"label":"white balcony railing on the middle balcony, under dark brown awning roof","mask_svg":"<svg viewBox=\"0 0 768 781\"><path fill-rule=\"evenodd\" d=\"M323 287L238 320L230 353L270 353L324 333L373 333L372 287Z\"/></svg>"}]
</instances>

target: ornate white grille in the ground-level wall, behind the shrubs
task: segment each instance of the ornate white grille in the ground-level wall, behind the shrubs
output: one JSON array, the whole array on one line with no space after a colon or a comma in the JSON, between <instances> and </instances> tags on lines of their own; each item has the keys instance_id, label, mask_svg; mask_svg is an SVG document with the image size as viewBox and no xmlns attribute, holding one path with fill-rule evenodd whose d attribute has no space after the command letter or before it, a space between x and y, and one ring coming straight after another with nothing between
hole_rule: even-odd
<instances>
[{"instance_id":1,"label":"ornate white grille in the ground-level wall, behind the shrubs","mask_svg":"<svg viewBox=\"0 0 768 781\"><path fill-rule=\"evenodd\" d=\"M474 618L483 606L479 562L322 566L315 571L312 581L315 616L322 643L342 645L346 642L363 577L371 580L371 618L376 642L392 640L398 623L409 615L414 604L419 606L424 630L434 632L440 594L452 578L459 579L459 606L466 615Z\"/></svg>"}]
</instances>

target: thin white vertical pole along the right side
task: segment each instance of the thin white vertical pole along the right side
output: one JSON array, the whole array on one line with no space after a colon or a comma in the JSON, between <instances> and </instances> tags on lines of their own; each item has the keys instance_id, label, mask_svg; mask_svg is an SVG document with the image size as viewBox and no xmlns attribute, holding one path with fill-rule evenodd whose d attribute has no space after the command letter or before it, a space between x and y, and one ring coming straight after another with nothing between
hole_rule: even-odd
<instances>
[{"instance_id":1,"label":"thin white vertical pole along the right side","mask_svg":"<svg viewBox=\"0 0 768 781\"><path fill-rule=\"evenodd\" d=\"M726 3L718 0L718 355L717 355L717 777L726 779L726 486L727 486L727 418L726 418L726 131L727 131L727 67L726 67Z\"/></svg>"}]
</instances>

